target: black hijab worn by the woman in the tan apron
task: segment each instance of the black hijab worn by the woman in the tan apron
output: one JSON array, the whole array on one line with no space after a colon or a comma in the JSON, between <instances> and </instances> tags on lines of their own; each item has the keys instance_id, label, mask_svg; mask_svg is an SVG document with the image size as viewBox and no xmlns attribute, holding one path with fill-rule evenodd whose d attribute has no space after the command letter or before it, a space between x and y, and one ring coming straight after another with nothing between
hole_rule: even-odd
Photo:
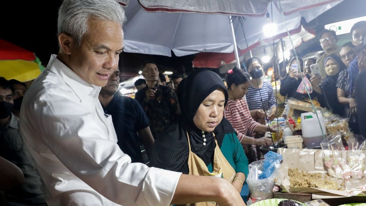
<instances>
[{"instance_id":1,"label":"black hijab worn by the woman in the tan apron","mask_svg":"<svg viewBox=\"0 0 366 206\"><path fill-rule=\"evenodd\" d=\"M221 147L225 133L232 133L235 130L230 122L223 118L213 133L205 132L206 145L203 146L202 130L195 126L193 117L203 100L216 89L224 91L226 106L228 92L223 80L213 71L196 70L183 78L178 85L178 102L182 115L177 122L157 135L150 157L150 166L188 174L189 148L186 132L190 138L192 152L206 165L213 162L216 147L213 133Z\"/></svg>"}]
</instances>

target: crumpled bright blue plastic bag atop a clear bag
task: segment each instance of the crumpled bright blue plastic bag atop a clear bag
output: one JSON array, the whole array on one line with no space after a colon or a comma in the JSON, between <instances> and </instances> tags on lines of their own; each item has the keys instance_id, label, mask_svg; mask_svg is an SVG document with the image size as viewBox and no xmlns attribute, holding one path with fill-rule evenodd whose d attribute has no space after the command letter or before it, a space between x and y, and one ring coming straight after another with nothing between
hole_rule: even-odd
<instances>
[{"instance_id":1,"label":"crumpled bright blue plastic bag atop a clear bag","mask_svg":"<svg viewBox=\"0 0 366 206\"><path fill-rule=\"evenodd\" d=\"M282 161L282 155L269 151L264 155L263 172L259 175L258 179L266 179L270 177L275 168L280 168Z\"/></svg>"}]
</instances>

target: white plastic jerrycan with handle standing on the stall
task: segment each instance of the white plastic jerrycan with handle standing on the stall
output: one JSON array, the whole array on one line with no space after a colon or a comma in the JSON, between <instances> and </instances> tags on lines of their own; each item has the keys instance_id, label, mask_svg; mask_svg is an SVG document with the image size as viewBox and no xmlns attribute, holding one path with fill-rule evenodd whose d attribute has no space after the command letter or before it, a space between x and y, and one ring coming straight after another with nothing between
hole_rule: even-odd
<instances>
[{"instance_id":1,"label":"white plastic jerrycan with handle standing on the stall","mask_svg":"<svg viewBox=\"0 0 366 206\"><path fill-rule=\"evenodd\" d=\"M324 118L320 111L317 111L321 128L326 136ZM313 112L301 114L301 128L304 146L307 148L320 147L321 141L324 140L322 130L320 128L317 115Z\"/></svg>"}]
</instances>

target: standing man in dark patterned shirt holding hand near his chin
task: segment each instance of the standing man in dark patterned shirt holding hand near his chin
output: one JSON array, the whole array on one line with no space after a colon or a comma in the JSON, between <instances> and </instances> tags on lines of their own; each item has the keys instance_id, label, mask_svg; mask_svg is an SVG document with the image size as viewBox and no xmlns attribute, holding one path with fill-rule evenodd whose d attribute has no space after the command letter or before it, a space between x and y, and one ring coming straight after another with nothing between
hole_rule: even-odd
<instances>
[{"instance_id":1,"label":"standing man in dark patterned shirt holding hand near his chin","mask_svg":"<svg viewBox=\"0 0 366 206\"><path fill-rule=\"evenodd\" d=\"M147 86L136 92L135 99L146 111L154 138L165 126L178 116L178 98L173 89L159 85L159 70L154 62L148 61L141 66L142 76Z\"/></svg>"}]
</instances>

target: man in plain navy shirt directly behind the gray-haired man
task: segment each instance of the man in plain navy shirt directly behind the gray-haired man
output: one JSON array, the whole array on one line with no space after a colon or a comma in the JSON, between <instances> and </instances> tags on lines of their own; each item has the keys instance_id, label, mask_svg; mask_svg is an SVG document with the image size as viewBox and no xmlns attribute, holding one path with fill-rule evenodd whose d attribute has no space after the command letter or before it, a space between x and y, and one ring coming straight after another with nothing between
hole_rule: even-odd
<instances>
[{"instance_id":1,"label":"man in plain navy shirt directly behind the gray-haired man","mask_svg":"<svg viewBox=\"0 0 366 206\"><path fill-rule=\"evenodd\" d=\"M149 127L149 119L140 104L129 97L116 94L119 83L119 69L108 79L107 85L99 93L99 101L105 114L112 115L116 130L117 144L131 157L132 162L143 162L139 140L146 149L147 157L154 143Z\"/></svg>"}]
</instances>

